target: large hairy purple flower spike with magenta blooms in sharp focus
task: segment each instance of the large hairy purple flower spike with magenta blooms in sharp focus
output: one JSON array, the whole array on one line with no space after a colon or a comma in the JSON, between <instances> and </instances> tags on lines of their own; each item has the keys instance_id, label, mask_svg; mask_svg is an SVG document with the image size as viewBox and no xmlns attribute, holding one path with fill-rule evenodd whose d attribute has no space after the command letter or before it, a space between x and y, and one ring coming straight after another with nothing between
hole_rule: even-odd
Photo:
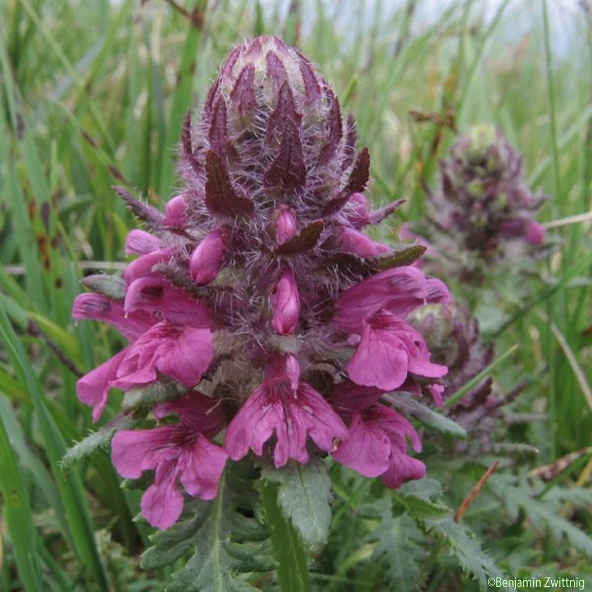
<instances>
[{"instance_id":1,"label":"large hairy purple flower spike with magenta blooms in sharp focus","mask_svg":"<svg viewBox=\"0 0 592 592\"><path fill-rule=\"evenodd\" d=\"M184 191L165 213L118 189L146 225L128 235L138 257L121 294L82 294L73 316L110 323L129 344L78 394L96 421L111 388L182 391L153 406L164 424L112 442L121 475L155 471L141 501L152 525L179 517L179 486L213 498L228 458L249 451L276 466L330 453L388 487L424 474L407 453L407 437L421 449L413 426L378 400L422 388L439 397L432 383L446 366L406 318L450 296L363 233L398 204L370 210L368 151L355 144L352 118L311 63L259 37L230 54L199 123L186 117Z\"/></svg>"}]
</instances>

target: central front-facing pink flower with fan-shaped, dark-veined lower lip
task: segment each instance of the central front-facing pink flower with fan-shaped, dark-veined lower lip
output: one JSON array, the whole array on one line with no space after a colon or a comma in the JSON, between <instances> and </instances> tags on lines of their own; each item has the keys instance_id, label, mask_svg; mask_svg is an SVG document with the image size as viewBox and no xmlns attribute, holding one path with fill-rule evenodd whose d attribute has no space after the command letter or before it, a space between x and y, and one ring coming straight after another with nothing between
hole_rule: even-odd
<instances>
[{"instance_id":1,"label":"central front-facing pink flower with fan-shaped, dark-veined lower lip","mask_svg":"<svg viewBox=\"0 0 592 592\"><path fill-rule=\"evenodd\" d=\"M300 366L292 355L278 356L230 422L224 447L237 461L249 451L263 454L263 445L275 433L275 466L292 458L308 461L307 436L326 452L336 449L336 440L347 435L339 416L314 388L299 378Z\"/></svg>"}]
</instances>

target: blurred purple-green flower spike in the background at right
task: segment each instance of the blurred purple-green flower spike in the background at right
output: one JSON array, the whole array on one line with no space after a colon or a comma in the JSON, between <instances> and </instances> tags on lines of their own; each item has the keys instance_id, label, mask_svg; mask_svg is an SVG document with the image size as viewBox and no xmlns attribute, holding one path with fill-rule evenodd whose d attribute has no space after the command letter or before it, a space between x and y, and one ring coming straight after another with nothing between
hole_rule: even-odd
<instances>
[{"instance_id":1,"label":"blurred purple-green flower spike in the background at right","mask_svg":"<svg viewBox=\"0 0 592 592\"><path fill-rule=\"evenodd\" d=\"M440 162L425 220L404 227L402 236L426 245L439 273L479 281L484 266L514 260L525 247L543 242L543 229L533 219L542 201L527 188L522 157L501 133L474 126Z\"/></svg>"}]
</instances>

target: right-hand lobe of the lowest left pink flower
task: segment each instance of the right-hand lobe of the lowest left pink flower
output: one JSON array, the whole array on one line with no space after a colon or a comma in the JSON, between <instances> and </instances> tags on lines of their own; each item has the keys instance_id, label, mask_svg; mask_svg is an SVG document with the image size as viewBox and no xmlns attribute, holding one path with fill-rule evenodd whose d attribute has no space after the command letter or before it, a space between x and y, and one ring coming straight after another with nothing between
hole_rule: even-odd
<instances>
[{"instance_id":1,"label":"right-hand lobe of the lowest left pink flower","mask_svg":"<svg viewBox=\"0 0 592 592\"><path fill-rule=\"evenodd\" d=\"M227 458L228 453L224 449L198 435L195 444L183 453L179 461L181 484L185 491L202 500L213 499Z\"/></svg>"}]
</instances>

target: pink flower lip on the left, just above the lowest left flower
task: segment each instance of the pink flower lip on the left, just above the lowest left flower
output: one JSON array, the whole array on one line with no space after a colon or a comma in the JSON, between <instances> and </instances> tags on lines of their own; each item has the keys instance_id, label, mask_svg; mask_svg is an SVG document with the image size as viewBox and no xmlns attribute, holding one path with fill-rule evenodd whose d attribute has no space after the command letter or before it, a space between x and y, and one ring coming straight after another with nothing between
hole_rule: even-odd
<instances>
[{"instance_id":1,"label":"pink flower lip on the left, just above the lowest left flower","mask_svg":"<svg viewBox=\"0 0 592 592\"><path fill-rule=\"evenodd\" d=\"M157 323L127 348L111 385L128 390L156 381L160 372L193 387L200 382L213 355L209 329Z\"/></svg>"}]
</instances>

